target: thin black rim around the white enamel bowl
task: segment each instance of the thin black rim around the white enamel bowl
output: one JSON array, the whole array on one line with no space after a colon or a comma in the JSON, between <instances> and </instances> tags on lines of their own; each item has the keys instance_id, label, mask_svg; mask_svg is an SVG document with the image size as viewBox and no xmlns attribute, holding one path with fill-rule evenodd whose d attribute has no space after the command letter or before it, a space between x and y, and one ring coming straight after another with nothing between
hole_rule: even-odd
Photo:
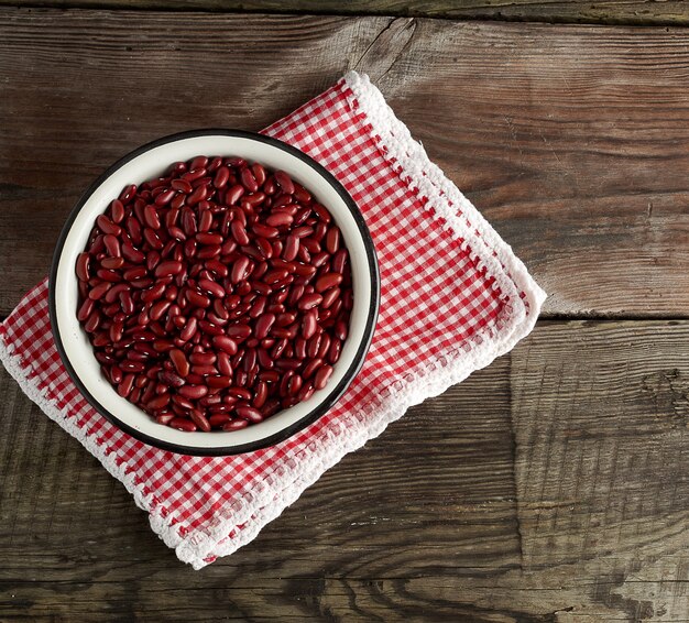
<instances>
[{"instance_id":1,"label":"thin black rim around the white enamel bowl","mask_svg":"<svg viewBox=\"0 0 689 623\"><path fill-rule=\"evenodd\" d=\"M69 358L65 351L62 336L59 335L59 328L57 326L57 315L56 315L56 303L55 303L55 282L57 280L57 266L59 264L59 260L63 253L63 248L65 245L65 241L67 239L67 234L72 229L72 225L76 219L77 215L86 204L86 201L90 198L90 196L95 193L95 190L108 178L112 175L117 170L132 161L136 156L151 151L154 147L160 147L161 145L165 145L167 143L172 143L175 141L181 141L184 139L193 139L197 136L208 136L208 135L221 135L221 136L236 136L242 139L251 139L262 143L266 143L278 147L293 156L296 156L300 161L308 164L313 170L316 171L321 177L326 178L326 181L332 186L332 188L338 193L341 199L344 201L347 208L351 212L357 223L357 228L359 229L359 233L362 237L363 244L367 251L367 259L369 263L369 273L371 278L371 299L369 303L369 313L367 316L367 324L364 327L363 338L359 348L357 350L357 354L347 372L344 373L342 380L335 385L328 396L311 412L308 412L303 418L295 422L294 424L283 428L282 430L256 441L251 441L248 444L242 444L241 446L223 446L223 447L214 447L214 448L204 448L197 446L185 446L183 444L172 444L169 441L163 441L156 437L152 437L146 435L145 433L141 433L135 428L129 426L127 423L119 419L114 414L109 412L103 405L101 405L98 400L86 389L77 373L75 372ZM380 305L380 272L378 264L378 256L375 254L375 247L373 244L373 239L371 238L371 233L369 228L367 227L363 217L361 216L361 211L359 210L357 204L351 198L349 193L344 189L344 187L336 179L336 177L330 174L324 166L318 164L310 156L306 155L304 152L278 141L277 139L273 139L271 136L264 136L263 134L258 134L255 132L247 132L243 130L228 130L228 129L205 129L205 130L190 130L187 132L179 132L176 134L171 134L168 136L163 136L136 150L130 152L124 157L120 159L112 166L110 166L106 172L103 172L81 195L76 206L72 209L67 221L65 222L63 230L57 240L57 244L55 247L55 252L53 254L53 263L51 266L51 274L48 281L48 308L50 308L50 318L51 318L51 327L53 330L53 338L55 340L55 346L59 353L59 357L72 378L72 381L77 386L77 389L81 392L84 397L91 404L98 413L100 413L106 419L114 424L118 428L121 428L132 437L143 441L144 444L149 444L156 448L161 448L163 450L168 450L172 452L181 453L181 455L189 455L189 456L231 456L231 455L241 455L244 452L251 452L254 450L260 450L262 448L267 448L284 441L288 437L292 437L295 433L303 430L309 424L316 422L319 417L325 415L342 396L342 394L347 391L351 382L354 380L361 367L363 365L365 356L371 346L371 340L373 339L373 334L375 330L375 324L378 321L378 312ZM143 417L150 417L143 411L141 412ZM162 426L162 425L161 425ZM212 435L214 433L204 433L204 435ZM190 435L194 435L193 433Z\"/></svg>"}]
</instances>

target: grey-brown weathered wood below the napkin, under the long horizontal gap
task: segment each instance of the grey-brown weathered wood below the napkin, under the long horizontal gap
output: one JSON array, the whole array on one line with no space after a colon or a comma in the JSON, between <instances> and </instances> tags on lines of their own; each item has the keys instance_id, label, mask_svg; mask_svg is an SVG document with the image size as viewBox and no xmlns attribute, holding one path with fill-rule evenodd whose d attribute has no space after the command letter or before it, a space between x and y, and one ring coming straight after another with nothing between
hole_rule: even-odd
<instances>
[{"instance_id":1,"label":"grey-brown weathered wood below the napkin, under the long horizontal gap","mask_svg":"<svg viewBox=\"0 0 689 623\"><path fill-rule=\"evenodd\" d=\"M0 621L686 621L687 343L543 323L198 572L2 373Z\"/></svg>"}]
</instances>

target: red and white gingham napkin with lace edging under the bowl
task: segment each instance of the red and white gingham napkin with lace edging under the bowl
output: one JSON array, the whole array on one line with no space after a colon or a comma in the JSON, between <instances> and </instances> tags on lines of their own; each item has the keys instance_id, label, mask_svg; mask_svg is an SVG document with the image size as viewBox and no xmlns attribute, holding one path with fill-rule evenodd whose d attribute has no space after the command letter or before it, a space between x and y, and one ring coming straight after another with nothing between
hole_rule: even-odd
<instances>
[{"instance_id":1,"label":"red and white gingham napkin with lace edging under the bowl","mask_svg":"<svg viewBox=\"0 0 689 623\"><path fill-rule=\"evenodd\" d=\"M124 483L153 529L195 569L253 539L324 471L411 405L508 351L531 331L545 298L367 76L348 74L265 133L306 152L344 185L380 261L381 312L371 350L344 396L318 422L238 457L158 450L108 423L74 386L53 343L45 281L0 326L0 358L26 394Z\"/></svg>"}]
</instances>

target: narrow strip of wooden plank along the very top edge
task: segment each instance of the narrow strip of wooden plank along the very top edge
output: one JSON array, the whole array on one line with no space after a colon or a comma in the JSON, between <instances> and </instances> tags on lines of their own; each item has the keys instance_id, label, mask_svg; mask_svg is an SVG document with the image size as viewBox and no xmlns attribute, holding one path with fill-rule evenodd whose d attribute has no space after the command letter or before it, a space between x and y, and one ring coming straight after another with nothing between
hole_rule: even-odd
<instances>
[{"instance_id":1,"label":"narrow strip of wooden plank along the very top edge","mask_svg":"<svg viewBox=\"0 0 689 623\"><path fill-rule=\"evenodd\" d=\"M452 20L687 25L681 0L0 0L19 7L396 15Z\"/></svg>"}]
</instances>

